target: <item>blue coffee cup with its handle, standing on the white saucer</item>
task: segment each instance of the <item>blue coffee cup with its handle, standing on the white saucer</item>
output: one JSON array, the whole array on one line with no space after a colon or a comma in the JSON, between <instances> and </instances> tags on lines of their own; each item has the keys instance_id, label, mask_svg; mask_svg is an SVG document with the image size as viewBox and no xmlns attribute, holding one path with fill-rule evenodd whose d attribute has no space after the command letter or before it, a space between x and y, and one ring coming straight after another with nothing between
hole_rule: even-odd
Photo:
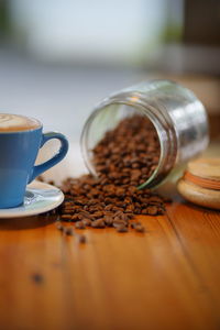
<instances>
[{"instance_id":1,"label":"blue coffee cup with its handle, standing on the white saucer","mask_svg":"<svg viewBox=\"0 0 220 330\"><path fill-rule=\"evenodd\" d=\"M43 133L42 129L38 122L36 128L0 131L0 209L22 205L26 185L65 157L67 139L57 132ZM34 165L38 150L52 139L61 141L57 154Z\"/></svg>"}]
</instances>

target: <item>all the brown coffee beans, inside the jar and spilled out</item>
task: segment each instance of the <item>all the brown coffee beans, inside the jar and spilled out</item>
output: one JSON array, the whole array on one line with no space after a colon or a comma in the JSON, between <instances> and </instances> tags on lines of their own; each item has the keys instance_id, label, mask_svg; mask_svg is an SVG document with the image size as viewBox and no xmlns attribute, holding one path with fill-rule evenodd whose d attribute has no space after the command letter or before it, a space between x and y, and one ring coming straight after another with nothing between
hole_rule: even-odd
<instances>
[{"instance_id":1,"label":"all the brown coffee beans, inside the jar and spilled out","mask_svg":"<svg viewBox=\"0 0 220 330\"><path fill-rule=\"evenodd\" d=\"M134 217L165 211L162 197L136 188L152 175L158 157L158 139L150 121L141 116L122 120L94 148L98 177L84 175L63 183L61 220L75 222L77 229L113 227L118 232L129 228L144 232Z\"/></svg>"}]
</instances>

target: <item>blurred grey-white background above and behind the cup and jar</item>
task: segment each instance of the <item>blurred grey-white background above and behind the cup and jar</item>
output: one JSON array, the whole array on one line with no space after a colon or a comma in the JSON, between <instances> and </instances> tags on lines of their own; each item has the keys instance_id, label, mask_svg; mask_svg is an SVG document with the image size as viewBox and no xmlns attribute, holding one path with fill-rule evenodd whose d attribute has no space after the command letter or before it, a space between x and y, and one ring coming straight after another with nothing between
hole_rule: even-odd
<instances>
[{"instance_id":1,"label":"blurred grey-white background above and behind the cup and jar","mask_svg":"<svg viewBox=\"0 0 220 330\"><path fill-rule=\"evenodd\" d=\"M219 0L0 0L0 111L78 141L94 106L148 78L191 88L220 134Z\"/></svg>"}]
</instances>

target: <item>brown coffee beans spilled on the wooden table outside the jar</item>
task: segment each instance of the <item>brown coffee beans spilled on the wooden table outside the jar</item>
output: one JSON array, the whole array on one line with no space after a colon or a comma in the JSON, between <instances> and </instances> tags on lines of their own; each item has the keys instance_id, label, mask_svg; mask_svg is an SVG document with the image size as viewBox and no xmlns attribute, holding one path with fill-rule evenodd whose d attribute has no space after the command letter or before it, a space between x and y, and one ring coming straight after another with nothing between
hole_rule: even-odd
<instances>
[{"instance_id":1,"label":"brown coffee beans spilled on the wooden table outside the jar","mask_svg":"<svg viewBox=\"0 0 220 330\"><path fill-rule=\"evenodd\" d=\"M127 232L129 227L144 232L139 221L131 221L136 215L163 215L165 204L162 197L148 189L138 190L130 185L116 186L96 179L91 175L67 178L63 186L65 201L58 209L61 220L75 222L75 228L114 227Z\"/></svg>"}]
</instances>

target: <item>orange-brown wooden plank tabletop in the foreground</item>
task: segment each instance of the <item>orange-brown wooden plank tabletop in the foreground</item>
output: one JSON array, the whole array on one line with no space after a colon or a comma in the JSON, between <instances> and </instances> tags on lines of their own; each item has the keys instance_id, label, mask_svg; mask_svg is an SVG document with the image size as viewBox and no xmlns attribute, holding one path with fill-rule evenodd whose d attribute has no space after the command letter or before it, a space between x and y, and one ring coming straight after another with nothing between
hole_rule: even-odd
<instances>
[{"instance_id":1,"label":"orange-brown wooden plank tabletop in the foreground","mask_svg":"<svg viewBox=\"0 0 220 330\"><path fill-rule=\"evenodd\" d=\"M53 217L0 220L0 329L220 329L220 212L177 198L142 221L80 244Z\"/></svg>"}]
</instances>

